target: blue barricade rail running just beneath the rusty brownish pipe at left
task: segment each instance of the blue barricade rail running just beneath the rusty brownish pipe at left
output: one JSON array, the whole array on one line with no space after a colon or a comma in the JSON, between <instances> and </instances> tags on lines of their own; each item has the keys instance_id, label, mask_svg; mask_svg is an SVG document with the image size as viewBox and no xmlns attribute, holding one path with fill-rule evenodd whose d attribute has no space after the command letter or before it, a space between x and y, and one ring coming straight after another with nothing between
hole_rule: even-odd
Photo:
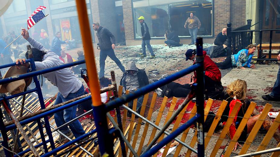
<instances>
[{"instance_id":1,"label":"blue barricade rail running just beneath the rusty brownish pipe at left","mask_svg":"<svg viewBox=\"0 0 280 157\"><path fill-rule=\"evenodd\" d=\"M43 118L44 116L54 114L54 113L56 113L56 112L62 111L62 110L64 110L64 109L67 109L67 108L69 108L69 107L75 106L75 105L77 105L77 104L79 104L79 103L81 103L81 102L83 102L83 101L87 101L87 100L90 100L90 99L91 99L91 96L85 97L85 98L82 98L82 99L80 99L80 100L74 101L74 102L72 102L72 103L68 103L68 104L66 104L66 105L60 106L60 107L58 107L58 108L56 108L56 109L52 109L52 110L50 110L50 111L46 111L46 112L40 113L39 115L34 115L34 116L32 116L32 117L30 117L30 118L28 118L28 119L22 120L22 121L20 122L20 124L21 124L21 125L28 124L28 123L30 123L30 122L33 122L33 121L37 120L37 119ZM36 113L36 112L35 112L35 113ZM31 115L31 114L30 114L30 115ZM13 128L16 128L15 124L11 124L11 125L6 126L6 129L7 129L7 130L11 130L11 129L13 129Z\"/></svg>"}]
</instances>

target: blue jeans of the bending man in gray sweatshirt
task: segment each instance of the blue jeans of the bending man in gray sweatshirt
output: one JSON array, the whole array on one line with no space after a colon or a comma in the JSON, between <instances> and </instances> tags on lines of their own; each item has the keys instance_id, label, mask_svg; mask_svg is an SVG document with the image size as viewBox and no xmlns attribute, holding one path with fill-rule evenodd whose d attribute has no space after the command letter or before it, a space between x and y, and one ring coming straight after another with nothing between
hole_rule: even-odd
<instances>
[{"instance_id":1,"label":"blue jeans of the bending man in gray sweatshirt","mask_svg":"<svg viewBox=\"0 0 280 157\"><path fill-rule=\"evenodd\" d=\"M69 93L66 98L63 97L60 92L58 92L57 97L56 97L56 102L54 103L54 105L63 103L65 101L74 99L76 97L80 97L82 95L84 95L84 86L83 85L75 93ZM69 122L70 120L76 118L77 107L78 107L78 105L75 105L75 106L69 107L63 111L56 112L54 114L56 126L59 127L65 123ZM85 133L84 129L78 119L75 120L74 122L70 123L68 126L71 129L72 133L74 134L75 138L77 138ZM64 127L60 128L59 131L61 131L63 134L67 134L70 132L69 128L67 127L67 125L65 125Z\"/></svg>"}]
</instances>

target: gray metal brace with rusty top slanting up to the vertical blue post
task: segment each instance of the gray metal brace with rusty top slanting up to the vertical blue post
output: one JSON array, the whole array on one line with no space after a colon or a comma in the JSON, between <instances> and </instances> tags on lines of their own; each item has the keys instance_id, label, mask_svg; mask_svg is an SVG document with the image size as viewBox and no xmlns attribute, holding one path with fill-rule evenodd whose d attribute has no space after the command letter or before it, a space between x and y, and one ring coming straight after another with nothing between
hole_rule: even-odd
<instances>
[{"instance_id":1,"label":"gray metal brace with rusty top slanting up to the vertical blue post","mask_svg":"<svg viewBox=\"0 0 280 157\"><path fill-rule=\"evenodd\" d=\"M154 145L154 143L158 140L158 138L161 137L161 135L164 133L164 131L168 128L168 126L173 122L173 120L179 115L179 113L184 109L184 107L189 103L190 100L195 97L195 92L192 89L189 94L187 95L186 99L183 101L183 103L179 106L179 108L173 113L173 115L170 117L170 119L165 123L165 125L161 128L161 130L158 132L158 134L153 138L151 143L146 147L145 152L147 152L151 147Z\"/></svg>"}]
</instances>

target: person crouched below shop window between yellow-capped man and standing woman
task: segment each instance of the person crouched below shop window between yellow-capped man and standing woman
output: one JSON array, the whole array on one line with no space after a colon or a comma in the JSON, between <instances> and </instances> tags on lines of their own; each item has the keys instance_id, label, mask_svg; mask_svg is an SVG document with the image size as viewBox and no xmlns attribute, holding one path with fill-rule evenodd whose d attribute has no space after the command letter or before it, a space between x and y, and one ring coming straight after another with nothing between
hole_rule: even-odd
<instances>
[{"instance_id":1,"label":"person crouched below shop window between yellow-capped man and standing woman","mask_svg":"<svg viewBox=\"0 0 280 157\"><path fill-rule=\"evenodd\" d=\"M164 43L165 45L168 45L169 48L183 45L180 44L180 38L178 37L178 34L175 31L173 31L171 28L170 30L165 31L164 37L166 39Z\"/></svg>"}]
</instances>

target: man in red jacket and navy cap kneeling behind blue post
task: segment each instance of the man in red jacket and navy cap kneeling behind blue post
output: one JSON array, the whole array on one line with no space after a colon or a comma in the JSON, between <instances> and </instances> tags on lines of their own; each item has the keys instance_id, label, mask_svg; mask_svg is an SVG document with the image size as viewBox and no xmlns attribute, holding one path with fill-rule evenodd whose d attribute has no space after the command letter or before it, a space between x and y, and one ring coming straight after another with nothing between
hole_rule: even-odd
<instances>
[{"instance_id":1,"label":"man in red jacket and navy cap kneeling behind blue post","mask_svg":"<svg viewBox=\"0 0 280 157\"><path fill-rule=\"evenodd\" d=\"M189 49L185 53L186 61L193 60L195 64L196 59L196 50ZM211 60L209 56L206 55L206 51L203 51L204 62L203 62L203 71L204 71L204 87L205 87L205 96L206 98L210 97L212 99L218 99L222 97L223 86L221 84L221 71L218 66ZM196 72L194 71L194 77L192 77L192 82L196 83Z\"/></svg>"}]
</instances>

